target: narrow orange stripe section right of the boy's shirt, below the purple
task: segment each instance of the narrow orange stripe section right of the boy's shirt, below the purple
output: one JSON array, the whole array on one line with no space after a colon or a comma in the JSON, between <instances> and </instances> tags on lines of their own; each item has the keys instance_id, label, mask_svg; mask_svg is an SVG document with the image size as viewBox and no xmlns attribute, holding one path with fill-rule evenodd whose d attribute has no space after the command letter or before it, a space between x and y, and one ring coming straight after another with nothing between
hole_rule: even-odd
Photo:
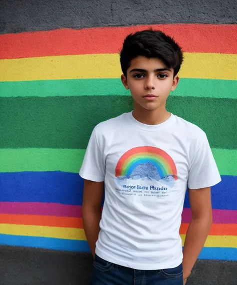
<instances>
[{"instance_id":1,"label":"narrow orange stripe section right of the boy's shirt, below the purple","mask_svg":"<svg viewBox=\"0 0 237 285\"><path fill-rule=\"evenodd\" d=\"M179 233L186 234L188 223L182 223ZM209 235L237 235L237 224L212 224Z\"/></svg>"}]
</instances>

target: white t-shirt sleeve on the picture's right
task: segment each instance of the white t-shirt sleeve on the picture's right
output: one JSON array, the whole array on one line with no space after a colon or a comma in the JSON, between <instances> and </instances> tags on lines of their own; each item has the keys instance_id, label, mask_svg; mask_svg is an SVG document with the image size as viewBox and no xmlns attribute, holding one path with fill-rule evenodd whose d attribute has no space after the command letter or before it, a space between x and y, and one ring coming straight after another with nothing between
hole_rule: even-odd
<instances>
[{"instance_id":1,"label":"white t-shirt sleeve on the picture's right","mask_svg":"<svg viewBox=\"0 0 237 285\"><path fill-rule=\"evenodd\" d=\"M189 189L211 187L221 181L206 135L191 159L187 185Z\"/></svg>"}]
</instances>

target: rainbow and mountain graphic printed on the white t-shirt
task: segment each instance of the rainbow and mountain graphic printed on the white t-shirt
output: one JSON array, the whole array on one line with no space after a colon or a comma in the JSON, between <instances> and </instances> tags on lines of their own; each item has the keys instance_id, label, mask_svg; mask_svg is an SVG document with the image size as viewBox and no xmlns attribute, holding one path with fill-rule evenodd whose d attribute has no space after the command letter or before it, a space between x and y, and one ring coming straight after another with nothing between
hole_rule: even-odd
<instances>
[{"instance_id":1,"label":"rainbow and mountain graphic printed on the white t-shirt","mask_svg":"<svg viewBox=\"0 0 237 285\"><path fill-rule=\"evenodd\" d=\"M172 187L177 180L177 170L165 151L142 146L132 148L121 156L115 168L115 177L120 181L159 181Z\"/></svg>"}]
</instances>

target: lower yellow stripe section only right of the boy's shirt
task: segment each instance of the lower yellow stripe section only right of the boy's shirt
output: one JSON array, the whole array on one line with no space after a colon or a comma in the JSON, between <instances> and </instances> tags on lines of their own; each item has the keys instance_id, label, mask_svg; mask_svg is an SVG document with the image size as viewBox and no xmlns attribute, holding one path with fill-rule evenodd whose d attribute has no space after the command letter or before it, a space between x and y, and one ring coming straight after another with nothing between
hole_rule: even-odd
<instances>
[{"instance_id":1,"label":"lower yellow stripe section only right of the boy's shirt","mask_svg":"<svg viewBox=\"0 0 237 285\"><path fill-rule=\"evenodd\" d=\"M184 244L185 234L181 234L182 245ZM208 235L205 247L234 247L237 248L236 235Z\"/></svg>"}]
</instances>

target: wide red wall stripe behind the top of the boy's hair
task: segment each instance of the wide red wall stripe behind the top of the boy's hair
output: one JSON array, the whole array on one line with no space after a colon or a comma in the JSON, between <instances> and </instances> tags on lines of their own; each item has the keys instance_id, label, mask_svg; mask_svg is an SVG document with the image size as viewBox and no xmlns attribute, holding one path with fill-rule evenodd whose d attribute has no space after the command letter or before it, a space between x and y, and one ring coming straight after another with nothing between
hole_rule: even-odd
<instances>
[{"instance_id":1,"label":"wide red wall stripe behind the top of the boy's hair","mask_svg":"<svg viewBox=\"0 0 237 285\"><path fill-rule=\"evenodd\" d=\"M237 25L168 24L3 34L0 59L117 53L127 34L149 27L174 36L184 52L237 53Z\"/></svg>"}]
</instances>

